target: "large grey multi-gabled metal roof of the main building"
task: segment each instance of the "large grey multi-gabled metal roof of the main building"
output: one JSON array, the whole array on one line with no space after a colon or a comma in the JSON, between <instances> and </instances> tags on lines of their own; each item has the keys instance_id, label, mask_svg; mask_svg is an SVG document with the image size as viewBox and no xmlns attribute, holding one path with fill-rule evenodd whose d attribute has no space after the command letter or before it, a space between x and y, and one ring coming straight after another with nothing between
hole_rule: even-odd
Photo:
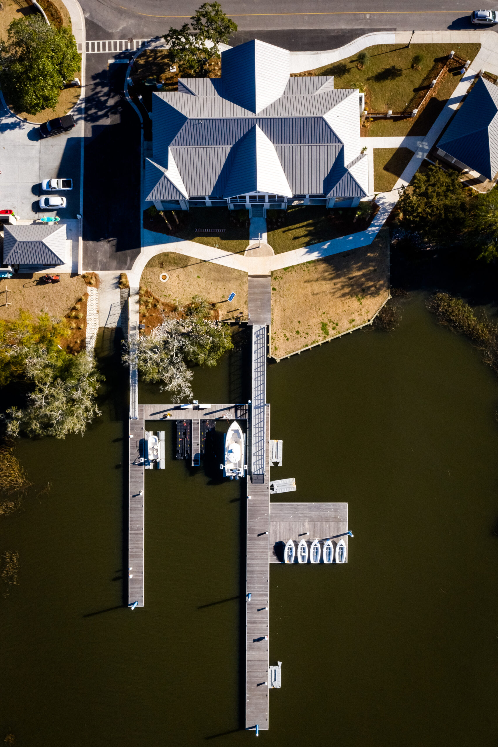
<instances>
[{"instance_id":1,"label":"large grey multi-gabled metal roof of the main building","mask_svg":"<svg viewBox=\"0 0 498 747\"><path fill-rule=\"evenodd\" d=\"M167 169L169 148L190 195L254 191L257 187L250 185L258 179L258 146L253 135L258 125L273 143L293 193L326 193L341 182L343 190L353 190L351 196L358 190L364 196L352 176L344 179L343 161L340 170L335 167L343 141L323 116L356 90L336 90L333 78L326 76L288 77L288 52L271 45L253 41L229 52L222 53L222 78L182 78L178 93L154 94L153 160ZM243 65L246 58L249 62ZM273 58L281 59L282 69L270 80L271 74L262 73L261 60ZM255 114L265 101L271 102ZM153 164L146 165L146 199L181 199L159 172Z\"/></svg>"}]
</instances>

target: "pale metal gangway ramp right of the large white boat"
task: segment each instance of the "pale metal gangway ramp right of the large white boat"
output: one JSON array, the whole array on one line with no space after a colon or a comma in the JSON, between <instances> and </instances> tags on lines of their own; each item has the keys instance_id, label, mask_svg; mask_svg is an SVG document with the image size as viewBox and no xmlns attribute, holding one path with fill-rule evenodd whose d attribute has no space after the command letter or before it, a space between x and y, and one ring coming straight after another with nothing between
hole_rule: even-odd
<instances>
[{"instance_id":1,"label":"pale metal gangway ramp right of the large white boat","mask_svg":"<svg viewBox=\"0 0 498 747\"><path fill-rule=\"evenodd\" d=\"M265 403L267 399L267 326L252 325L251 473L265 474Z\"/></svg>"}]
</instances>

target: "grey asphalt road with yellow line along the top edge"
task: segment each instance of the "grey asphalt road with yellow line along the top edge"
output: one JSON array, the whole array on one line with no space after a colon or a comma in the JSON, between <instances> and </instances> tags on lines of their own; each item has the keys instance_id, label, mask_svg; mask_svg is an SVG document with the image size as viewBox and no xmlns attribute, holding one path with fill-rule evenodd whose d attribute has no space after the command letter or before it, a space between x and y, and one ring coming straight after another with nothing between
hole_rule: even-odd
<instances>
[{"instance_id":1,"label":"grey asphalt road with yellow line along the top edge","mask_svg":"<svg viewBox=\"0 0 498 747\"><path fill-rule=\"evenodd\" d=\"M164 34L169 26L178 27L192 15L199 0L179 5L172 0L81 0L85 17L102 28L105 39L149 38ZM240 31L281 29L346 30L360 36L378 29L443 30L473 28L469 7L464 0L443 0L437 7L432 0L419 0L417 9L407 9L399 0L225 0L223 10ZM320 47L328 36L317 37ZM301 47L299 46L299 49Z\"/></svg>"}]
</instances>

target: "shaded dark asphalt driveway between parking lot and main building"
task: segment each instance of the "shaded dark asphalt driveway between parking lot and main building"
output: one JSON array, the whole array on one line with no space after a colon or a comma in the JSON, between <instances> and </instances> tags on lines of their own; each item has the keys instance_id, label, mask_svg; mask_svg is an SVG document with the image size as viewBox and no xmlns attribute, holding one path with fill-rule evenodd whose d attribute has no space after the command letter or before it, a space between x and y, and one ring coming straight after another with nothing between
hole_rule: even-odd
<instances>
[{"instance_id":1,"label":"shaded dark asphalt driveway between parking lot and main building","mask_svg":"<svg viewBox=\"0 0 498 747\"><path fill-rule=\"evenodd\" d=\"M127 63L87 55L83 264L93 270L129 270L140 253L140 121L119 96Z\"/></svg>"}]
</instances>

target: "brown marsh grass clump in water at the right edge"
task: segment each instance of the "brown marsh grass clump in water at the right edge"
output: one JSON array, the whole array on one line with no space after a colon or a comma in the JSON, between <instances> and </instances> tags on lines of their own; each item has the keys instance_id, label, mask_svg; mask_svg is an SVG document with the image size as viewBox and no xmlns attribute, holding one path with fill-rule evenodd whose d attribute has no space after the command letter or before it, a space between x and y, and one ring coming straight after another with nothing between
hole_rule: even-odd
<instances>
[{"instance_id":1,"label":"brown marsh grass clump in water at the right edge","mask_svg":"<svg viewBox=\"0 0 498 747\"><path fill-rule=\"evenodd\" d=\"M466 335L483 353L483 361L498 373L498 323L488 319L485 311L480 317L472 306L449 293L435 293L427 301L438 323Z\"/></svg>"}]
</instances>

